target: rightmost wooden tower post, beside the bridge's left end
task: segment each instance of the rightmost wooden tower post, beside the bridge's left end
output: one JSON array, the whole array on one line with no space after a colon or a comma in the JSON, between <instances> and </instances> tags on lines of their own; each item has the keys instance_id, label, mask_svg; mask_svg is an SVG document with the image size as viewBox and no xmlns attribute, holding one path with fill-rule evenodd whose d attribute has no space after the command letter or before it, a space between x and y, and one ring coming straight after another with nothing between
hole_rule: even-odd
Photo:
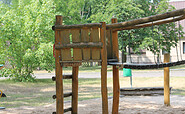
<instances>
[{"instance_id":1,"label":"rightmost wooden tower post, beside the bridge's left end","mask_svg":"<svg viewBox=\"0 0 185 114\"><path fill-rule=\"evenodd\" d=\"M117 19L111 19L112 23L117 23ZM119 61L119 50L118 50L118 33L117 31L112 32L112 45L113 45L113 57L117 58ZM120 86L119 86L119 68L117 66L113 66L113 106L112 106L112 114L118 114L119 110L119 94L120 94Z\"/></svg>"}]
</instances>

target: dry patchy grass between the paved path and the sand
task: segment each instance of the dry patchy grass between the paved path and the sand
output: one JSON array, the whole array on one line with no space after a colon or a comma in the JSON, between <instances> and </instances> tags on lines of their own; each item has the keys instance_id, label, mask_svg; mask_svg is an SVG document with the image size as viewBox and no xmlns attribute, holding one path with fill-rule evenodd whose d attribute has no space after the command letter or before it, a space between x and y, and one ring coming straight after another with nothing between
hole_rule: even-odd
<instances>
[{"instance_id":1,"label":"dry patchy grass between the paved path and the sand","mask_svg":"<svg viewBox=\"0 0 185 114\"><path fill-rule=\"evenodd\" d=\"M185 77L171 77L173 95L185 95ZM101 97L100 79L79 79L79 100ZM162 87L163 77L133 77L134 87ZM129 78L120 77L120 87L130 87ZM0 107L40 106L54 103L55 83L50 79L20 83L0 80L0 89L7 95L0 98ZM71 80L64 80L64 92L71 91ZM108 95L112 96L112 78L108 78ZM162 97L162 96L161 96ZM65 99L66 101L70 98Z\"/></svg>"}]
</instances>

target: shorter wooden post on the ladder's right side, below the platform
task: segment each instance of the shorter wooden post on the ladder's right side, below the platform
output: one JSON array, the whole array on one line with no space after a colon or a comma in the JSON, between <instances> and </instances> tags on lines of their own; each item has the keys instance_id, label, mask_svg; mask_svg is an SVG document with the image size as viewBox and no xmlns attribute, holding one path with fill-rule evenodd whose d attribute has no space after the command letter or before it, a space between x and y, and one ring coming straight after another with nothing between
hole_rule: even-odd
<instances>
[{"instance_id":1,"label":"shorter wooden post on the ladder's right side, below the platform","mask_svg":"<svg viewBox=\"0 0 185 114\"><path fill-rule=\"evenodd\" d=\"M79 70L79 66L73 67L72 112L71 112L71 114L77 114L78 113L78 70Z\"/></svg>"}]
</instances>

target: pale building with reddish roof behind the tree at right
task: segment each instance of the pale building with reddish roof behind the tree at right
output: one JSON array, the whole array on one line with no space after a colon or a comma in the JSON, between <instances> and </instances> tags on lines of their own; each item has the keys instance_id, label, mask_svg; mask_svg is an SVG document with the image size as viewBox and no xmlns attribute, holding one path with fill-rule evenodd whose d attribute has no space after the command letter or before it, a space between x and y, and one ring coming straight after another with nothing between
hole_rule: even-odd
<instances>
[{"instance_id":1,"label":"pale building with reddish roof behind the tree at right","mask_svg":"<svg viewBox=\"0 0 185 114\"><path fill-rule=\"evenodd\" d=\"M185 1L172 1L169 3L170 5L173 5L176 9L185 8ZM185 20L181 20L179 22L183 27L183 31L185 32ZM181 38L181 40L177 44L177 49L178 50L176 51L176 48L171 48L171 53L170 53L171 62L181 60L181 58L185 59L185 38ZM151 51L147 51L147 50L142 50L141 55L133 54L133 53L131 53L131 57L127 55L127 62L132 62L132 63L155 63L155 62L161 62L163 61L163 59L164 58L163 58L162 50L161 50L160 57L157 58L157 55L155 55L155 59L154 59L154 54ZM121 60L121 53L120 53L120 60Z\"/></svg>"}]
</instances>

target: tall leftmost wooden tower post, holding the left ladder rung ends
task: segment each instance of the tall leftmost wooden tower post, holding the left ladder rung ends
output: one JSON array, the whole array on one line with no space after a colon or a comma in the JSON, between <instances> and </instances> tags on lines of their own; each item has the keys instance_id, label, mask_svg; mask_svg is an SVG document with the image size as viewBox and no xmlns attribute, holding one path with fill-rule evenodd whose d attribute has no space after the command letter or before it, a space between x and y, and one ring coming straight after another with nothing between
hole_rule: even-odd
<instances>
[{"instance_id":1,"label":"tall leftmost wooden tower post, holding the left ladder rung ends","mask_svg":"<svg viewBox=\"0 0 185 114\"><path fill-rule=\"evenodd\" d=\"M56 24L62 25L62 16L56 16ZM55 44L59 44L61 33L55 30ZM56 113L64 113L64 99L63 99L63 76L62 76L62 66L60 65L61 50L55 51L55 74L56 74Z\"/></svg>"}]
</instances>

